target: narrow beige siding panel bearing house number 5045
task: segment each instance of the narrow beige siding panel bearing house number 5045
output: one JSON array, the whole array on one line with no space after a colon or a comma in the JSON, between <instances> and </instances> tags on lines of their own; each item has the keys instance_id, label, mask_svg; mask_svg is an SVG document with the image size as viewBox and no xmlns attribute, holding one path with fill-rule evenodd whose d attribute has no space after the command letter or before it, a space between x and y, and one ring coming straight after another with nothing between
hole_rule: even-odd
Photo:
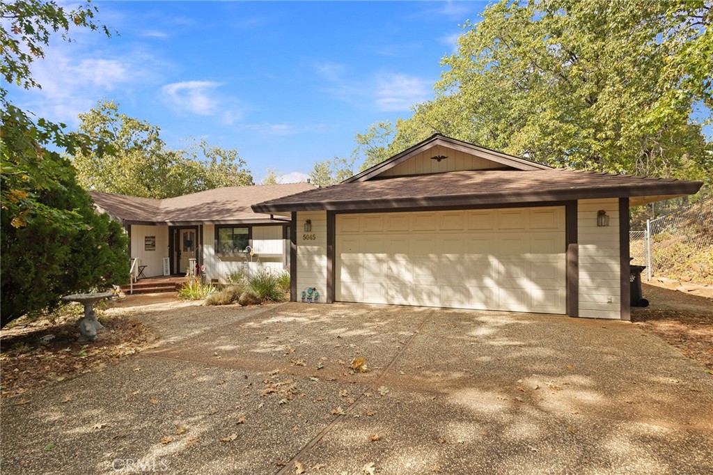
<instances>
[{"instance_id":1,"label":"narrow beige siding panel bearing house number 5045","mask_svg":"<svg viewBox=\"0 0 713 475\"><path fill-rule=\"evenodd\" d=\"M312 220L312 232L304 221ZM297 300L302 290L317 287L319 301L327 297L327 212L297 213Z\"/></svg>"}]
</instances>

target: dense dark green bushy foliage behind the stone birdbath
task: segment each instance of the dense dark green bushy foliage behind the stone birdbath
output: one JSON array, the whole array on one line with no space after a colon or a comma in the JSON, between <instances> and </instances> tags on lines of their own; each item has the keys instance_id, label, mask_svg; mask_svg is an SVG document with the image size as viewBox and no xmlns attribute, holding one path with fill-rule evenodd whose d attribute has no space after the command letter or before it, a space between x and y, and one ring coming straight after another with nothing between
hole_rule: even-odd
<instances>
[{"instance_id":1,"label":"dense dark green bushy foliage behind the stone birdbath","mask_svg":"<svg viewBox=\"0 0 713 475\"><path fill-rule=\"evenodd\" d=\"M58 126L33 123L7 105L2 111L0 195L0 325L50 310L61 296L106 289L128 280L121 226L98 215L61 155L81 143Z\"/></svg>"}]
</instances>

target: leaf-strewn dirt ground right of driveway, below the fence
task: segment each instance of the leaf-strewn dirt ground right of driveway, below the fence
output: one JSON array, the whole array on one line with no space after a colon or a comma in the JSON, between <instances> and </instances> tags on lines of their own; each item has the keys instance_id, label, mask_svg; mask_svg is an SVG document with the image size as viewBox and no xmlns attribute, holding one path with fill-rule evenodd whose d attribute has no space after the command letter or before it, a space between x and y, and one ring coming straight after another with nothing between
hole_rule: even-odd
<instances>
[{"instance_id":1,"label":"leaf-strewn dirt ground right of driveway, below the fence","mask_svg":"<svg viewBox=\"0 0 713 475\"><path fill-rule=\"evenodd\" d=\"M713 374L713 299L642 285L648 307L633 307L632 322L657 334Z\"/></svg>"}]
</instances>

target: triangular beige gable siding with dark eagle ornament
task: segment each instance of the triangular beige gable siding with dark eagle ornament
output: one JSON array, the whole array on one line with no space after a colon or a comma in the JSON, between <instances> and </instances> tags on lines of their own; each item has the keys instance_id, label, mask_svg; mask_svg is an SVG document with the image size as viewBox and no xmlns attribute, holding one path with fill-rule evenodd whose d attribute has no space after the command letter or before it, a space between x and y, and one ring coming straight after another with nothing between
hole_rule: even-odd
<instances>
[{"instance_id":1,"label":"triangular beige gable siding with dark eagle ornament","mask_svg":"<svg viewBox=\"0 0 713 475\"><path fill-rule=\"evenodd\" d=\"M431 157L440 153L448 155L448 158L441 160L431 160ZM486 158L476 157L460 150L446 150L441 148L440 152L436 148L429 148L419 155L416 155L403 163L399 163L394 168L380 173L379 176L403 176L403 175L425 175L428 173L443 173L460 170L488 170L491 168L501 168L501 163L496 163Z\"/></svg>"}]
</instances>

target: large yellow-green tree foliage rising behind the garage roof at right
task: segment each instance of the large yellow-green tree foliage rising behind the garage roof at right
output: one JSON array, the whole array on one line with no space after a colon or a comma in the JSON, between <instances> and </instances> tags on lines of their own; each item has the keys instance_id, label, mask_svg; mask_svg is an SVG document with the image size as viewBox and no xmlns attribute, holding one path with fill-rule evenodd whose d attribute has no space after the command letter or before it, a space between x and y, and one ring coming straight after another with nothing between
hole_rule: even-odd
<instances>
[{"instance_id":1,"label":"large yellow-green tree foliage rising behind the garage roof at right","mask_svg":"<svg viewBox=\"0 0 713 475\"><path fill-rule=\"evenodd\" d=\"M560 167L713 176L704 0L503 0L443 58L436 98L357 136L364 167L440 132ZM386 142L389 142L386 144Z\"/></svg>"}]
</instances>

